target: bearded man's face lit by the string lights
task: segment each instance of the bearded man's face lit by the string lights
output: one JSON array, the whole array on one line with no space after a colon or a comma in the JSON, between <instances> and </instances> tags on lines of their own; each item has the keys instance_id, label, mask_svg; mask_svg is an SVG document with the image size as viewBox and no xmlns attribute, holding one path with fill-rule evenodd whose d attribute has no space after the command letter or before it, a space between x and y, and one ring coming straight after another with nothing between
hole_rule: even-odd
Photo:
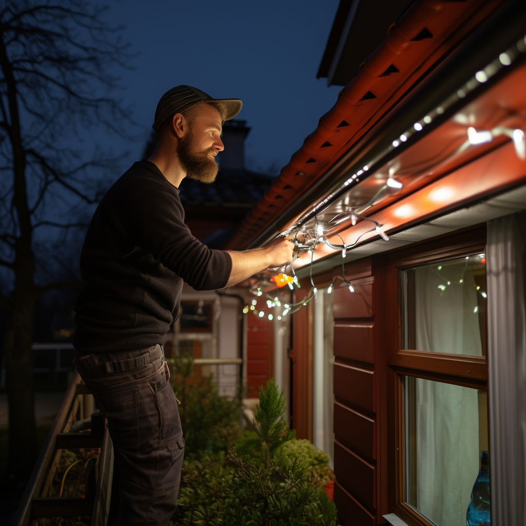
<instances>
[{"instance_id":1,"label":"bearded man's face lit by the string lights","mask_svg":"<svg viewBox=\"0 0 526 526\"><path fill-rule=\"evenodd\" d=\"M217 154L224 149L221 142L221 115L214 106L200 104L187 115L188 133L179 143L177 155L187 177L213 183L218 166Z\"/></svg>"}]
</instances>

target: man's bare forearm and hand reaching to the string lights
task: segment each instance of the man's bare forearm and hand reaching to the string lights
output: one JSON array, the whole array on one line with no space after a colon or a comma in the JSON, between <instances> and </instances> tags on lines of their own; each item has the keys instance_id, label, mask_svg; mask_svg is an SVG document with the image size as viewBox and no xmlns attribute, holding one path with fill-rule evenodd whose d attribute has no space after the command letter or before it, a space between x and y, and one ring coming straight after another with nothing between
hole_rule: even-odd
<instances>
[{"instance_id":1,"label":"man's bare forearm and hand reaching to the string lights","mask_svg":"<svg viewBox=\"0 0 526 526\"><path fill-rule=\"evenodd\" d=\"M262 248L244 252L228 251L232 258L232 270L227 287L235 285L269 267L281 267L292 261L294 243L280 237Z\"/></svg>"}]
</instances>

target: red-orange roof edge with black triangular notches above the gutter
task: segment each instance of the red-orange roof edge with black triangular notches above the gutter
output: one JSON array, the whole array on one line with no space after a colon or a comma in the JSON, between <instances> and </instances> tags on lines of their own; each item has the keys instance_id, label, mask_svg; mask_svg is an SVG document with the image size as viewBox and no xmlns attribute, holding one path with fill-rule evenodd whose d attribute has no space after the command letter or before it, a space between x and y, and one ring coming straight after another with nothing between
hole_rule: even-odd
<instances>
[{"instance_id":1,"label":"red-orange roof edge with black triangular notches above the gutter","mask_svg":"<svg viewBox=\"0 0 526 526\"><path fill-rule=\"evenodd\" d=\"M292 155L227 248L242 250L257 245L276 217L290 211L300 198L310 196L313 187L317 191L315 185L325 181L329 169L351 148L352 152L363 151L362 139L367 133L500 4L498 0L413 2L392 24L387 38L366 59L358 75L342 89L335 106L319 119L317 129Z\"/></svg>"}]
</instances>

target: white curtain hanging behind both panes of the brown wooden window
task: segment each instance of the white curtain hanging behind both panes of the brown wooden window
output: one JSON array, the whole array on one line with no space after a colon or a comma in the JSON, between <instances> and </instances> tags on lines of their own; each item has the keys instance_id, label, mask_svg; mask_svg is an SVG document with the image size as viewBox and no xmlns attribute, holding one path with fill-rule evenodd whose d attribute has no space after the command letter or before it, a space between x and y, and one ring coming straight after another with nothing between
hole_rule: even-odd
<instances>
[{"instance_id":1,"label":"white curtain hanging behind both panes of the brown wooden window","mask_svg":"<svg viewBox=\"0 0 526 526\"><path fill-rule=\"evenodd\" d=\"M441 290L437 272L414 272L416 348L480 356L473 277ZM444 267L442 276L447 272ZM417 508L439 526L460 526L479 471L477 390L420 378L415 383Z\"/></svg>"}]
</instances>

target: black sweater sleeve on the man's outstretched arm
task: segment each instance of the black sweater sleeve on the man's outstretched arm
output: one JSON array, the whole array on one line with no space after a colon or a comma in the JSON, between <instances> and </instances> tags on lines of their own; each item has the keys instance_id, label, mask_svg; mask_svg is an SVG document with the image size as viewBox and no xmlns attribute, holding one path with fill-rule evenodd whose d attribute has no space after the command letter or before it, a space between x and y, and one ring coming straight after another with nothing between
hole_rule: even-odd
<instances>
[{"instance_id":1,"label":"black sweater sleeve on the man's outstretched arm","mask_svg":"<svg viewBox=\"0 0 526 526\"><path fill-rule=\"evenodd\" d=\"M196 290L227 285L232 269L230 254L208 248L191 234L175 191L162 183L140 185L123 205L130 240L136 246L148 250Z\"/></svg>"}]
</instances>

